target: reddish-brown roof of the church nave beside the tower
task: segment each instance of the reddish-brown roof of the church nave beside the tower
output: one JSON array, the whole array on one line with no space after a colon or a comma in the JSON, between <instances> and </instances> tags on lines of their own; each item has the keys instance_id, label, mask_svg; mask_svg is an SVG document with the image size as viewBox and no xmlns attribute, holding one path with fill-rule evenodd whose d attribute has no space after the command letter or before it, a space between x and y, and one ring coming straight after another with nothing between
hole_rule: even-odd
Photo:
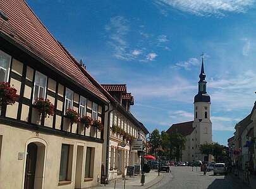
<instances>
[{"instance_id":1,"label":"reddish-brown roof of the church nave beside the tower","mask_svg":"<svg viewBox=\"0 0 256 189\"><path fill-rule=\"evenodd\" d=\"M192 134L194 129L193 121L191 121L173 124L166 132L168 132L168 134L179 133L183 136L186 136Z\"/></svg>"}]
</instances>

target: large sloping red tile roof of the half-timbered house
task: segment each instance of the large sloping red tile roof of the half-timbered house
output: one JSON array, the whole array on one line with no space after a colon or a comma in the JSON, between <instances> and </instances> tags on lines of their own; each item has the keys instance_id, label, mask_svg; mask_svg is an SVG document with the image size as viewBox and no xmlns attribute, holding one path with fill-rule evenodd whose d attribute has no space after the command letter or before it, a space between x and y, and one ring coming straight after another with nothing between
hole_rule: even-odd
<instances>
[{"instance_id":1,"label":"large sloping red tile roof of the half-timbered house","mask_svg":"<svg viewBox=\"0 0 256 189\"><path fill-rule=\"evenodd\" d=\"M8 16L6 22L0 18L0 33L4 33L43 59L49 66L70 77L81 88L87 89L101 100L108 101L106 96L82 73L57 40L52 37L25 1L0 0L0 9Z\"/></svg>"}]
</instances>

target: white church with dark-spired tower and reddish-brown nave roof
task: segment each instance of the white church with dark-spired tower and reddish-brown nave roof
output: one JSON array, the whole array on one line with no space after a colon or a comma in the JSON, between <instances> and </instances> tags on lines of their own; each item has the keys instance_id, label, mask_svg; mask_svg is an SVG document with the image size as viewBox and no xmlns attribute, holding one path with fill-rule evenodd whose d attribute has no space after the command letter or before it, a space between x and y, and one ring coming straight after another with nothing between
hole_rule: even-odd
<instances>
[{"instance_id":1,"label":"white church with dark-spired tower and reddish-brown nave roof","mask_svg":"<svg viewBox=\"0 0 256 189\"><path fill-rule=\"evenodd\" d=\"M204 58L198 82L198 93L194 98L194 120L175 123L167 130L168 134L180 133L186 137L181 161L212 161L212 156L200 152L201 144L212 143L212 122L210 121L210 96L207 94L204 72Z\"/></svg>"}]
</instances>

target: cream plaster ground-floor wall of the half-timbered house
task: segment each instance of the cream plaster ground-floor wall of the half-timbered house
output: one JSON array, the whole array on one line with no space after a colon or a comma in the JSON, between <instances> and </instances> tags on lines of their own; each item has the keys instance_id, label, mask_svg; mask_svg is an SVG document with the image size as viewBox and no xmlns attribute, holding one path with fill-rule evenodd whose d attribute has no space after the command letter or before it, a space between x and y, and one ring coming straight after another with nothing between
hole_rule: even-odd
<instances>
[{"instance_id":1,"label":"cream plaster ground-floor wall of the half-timbered house","mask_svg":"<svg viewBox=\"0 0 256 189\"><path fill-rule=\"evenodd\" d=\"M46 167L44 174L44 189L53 188L74 188L75 184L75 160L76 160L76 144L84 145L83 155L83 171L85 170L85 154L86 147L95 147L94 161L94 179L93 181L82 181L82 187L97 185L97 176L101 176L102 162L102 144L96 142L87 142L84 140L69 139L49 134L37 134L34 131L18 129L8 125L0 125L0 135L3 135L3 144L0 161L0 189L6 188L23 188L23 180L25 173L25 157L23 160L18 160L19 152L26 152L26 143L33 138L39 138L46 141ZM59 164L61 156L61 144L73 145L73 160L71 183L69 185L58 186L59 183ZM84 175L83 177L84 178Z\"/></svg>"}]
</instances>

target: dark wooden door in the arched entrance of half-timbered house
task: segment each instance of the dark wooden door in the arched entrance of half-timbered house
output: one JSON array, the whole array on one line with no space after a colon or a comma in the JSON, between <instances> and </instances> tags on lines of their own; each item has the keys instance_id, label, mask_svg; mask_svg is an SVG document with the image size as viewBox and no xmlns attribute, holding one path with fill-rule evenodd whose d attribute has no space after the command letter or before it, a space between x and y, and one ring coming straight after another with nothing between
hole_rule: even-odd
<instances>
[{"instance_id":1,"label":"dark wooden door in the arched entrance of half-timbered house","mask_svg":"<svg viewBox=\"0 0 256 189\"><path fill-rule=\"evenodd\" d=\"M34 189L36 163L37 163L37 145L34 143L30 143L28 144L28 149L27 149L24 189Z\"/></svg>"}]
</instances>

